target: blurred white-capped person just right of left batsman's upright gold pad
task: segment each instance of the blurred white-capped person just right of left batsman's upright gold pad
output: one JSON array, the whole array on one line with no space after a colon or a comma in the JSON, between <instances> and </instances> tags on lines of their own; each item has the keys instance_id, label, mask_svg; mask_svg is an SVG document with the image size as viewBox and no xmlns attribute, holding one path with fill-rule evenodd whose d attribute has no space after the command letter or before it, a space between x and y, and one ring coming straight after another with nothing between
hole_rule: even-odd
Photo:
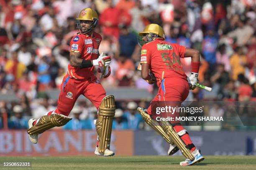
<instances>
[{"instance_id":1,"label":"blurred white-capped person just right of left batsman's upright gold pad","mask_svg":"<svg viewBox=\"0 0 256 170\"><path fill-rule=\"evenodd\" d=\"M113 120L113 130L126 130L128 129L127 122L123 119L123 110L115 110L115 119Z\"/></svg>"}]
</instances>

